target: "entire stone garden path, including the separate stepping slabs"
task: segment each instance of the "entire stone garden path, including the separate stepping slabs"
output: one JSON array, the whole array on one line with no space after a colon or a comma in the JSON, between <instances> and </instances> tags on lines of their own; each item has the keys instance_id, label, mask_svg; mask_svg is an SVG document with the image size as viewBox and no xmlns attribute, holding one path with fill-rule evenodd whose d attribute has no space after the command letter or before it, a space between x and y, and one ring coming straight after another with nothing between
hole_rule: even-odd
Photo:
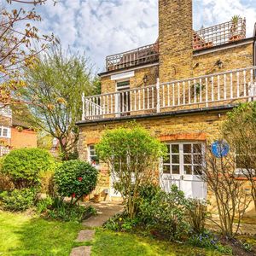
<instances>
[{"instance_id":1,"label":"entire stone garden path, including the separate stepping slabs","mask_svg":"<svg viewBox=\"0 0 256 256\"><path fill-rule=\"evenodd\" d=\"M115 214L122 212L124 207L119 202L101 202L90 203L92 207L97 210L96 216L91 216L84 220L84 227L96 228L101 227L108 218L113 217ZM81 230L76 242L93 241L95 236L95 230ZM74 247L70 253L70 256L90 256L91 246Z\"/></svg>"}]
</instances>

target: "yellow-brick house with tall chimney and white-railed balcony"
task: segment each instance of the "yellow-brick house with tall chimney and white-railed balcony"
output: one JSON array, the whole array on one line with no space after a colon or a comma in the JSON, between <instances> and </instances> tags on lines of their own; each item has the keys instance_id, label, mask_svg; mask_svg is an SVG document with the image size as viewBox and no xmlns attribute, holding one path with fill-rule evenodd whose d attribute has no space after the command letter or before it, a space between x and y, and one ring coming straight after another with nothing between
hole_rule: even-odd
<instances>
[{"instance_id":1,"label":"yellow-brick house with tall chimney and white-railed balcony","mask_svg":"<svg viewBox=\"0 0 256 256\"><path fill-rule=\"evenodd\" d=\"M94 145L106 129L135 119L168 145L161 186L177 183L187 196L206 198L193 159L218 139L228 111L256 99L255 41L255 32L246 37L243 18L194 31L192 0L159 0L156 43L107 56L102 95L83 98L79 158L100 169L102 195L118 196Z\"/></svg>"}]
</instances>

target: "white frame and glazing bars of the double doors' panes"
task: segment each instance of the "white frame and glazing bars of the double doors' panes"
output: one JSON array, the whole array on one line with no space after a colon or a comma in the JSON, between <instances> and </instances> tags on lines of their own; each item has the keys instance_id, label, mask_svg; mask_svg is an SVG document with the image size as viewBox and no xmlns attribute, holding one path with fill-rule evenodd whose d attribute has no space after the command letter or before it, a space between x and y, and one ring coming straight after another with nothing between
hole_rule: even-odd
<instances>
[{"instance_id":1,"label":"white frame and glazing bars of the double doors' panes","mask_svg":"<svg viewBox=\"0 0 256 256\"><path fill-rule=\"evenodd\" d=\"M183 145L189 144L191 145L191 153L183 153ZM194 145L196 144L201 144L201 154L199 153L194 153ZM199 166L197 164L194 163L194 157L195 155L201 155L201 172L203 171L203 166L205 165L205 143L203 142L198 142L198 141L188 141L188 142L166 142L166 145L170 147L170 160L169 163L166 163L165 160L163 160L162 162L162 172L164 174L170 174L170 175L195 175L198 176L198 174L196 174L194 172L195 170L195 166ZM178 153L172 153L172 145L178 145ZM178 155L178 163L172 163L172 155ZM185 155L191 155L191 163L184 163L184 157ZM164 170L164 166L170 166L170 173L169 172L165 172ZM172 173L172 166L179 166L179 173ZM191 173L186 173L185 172L185 167L184 166L191 166Z\"/></svg>"}]
</instances>

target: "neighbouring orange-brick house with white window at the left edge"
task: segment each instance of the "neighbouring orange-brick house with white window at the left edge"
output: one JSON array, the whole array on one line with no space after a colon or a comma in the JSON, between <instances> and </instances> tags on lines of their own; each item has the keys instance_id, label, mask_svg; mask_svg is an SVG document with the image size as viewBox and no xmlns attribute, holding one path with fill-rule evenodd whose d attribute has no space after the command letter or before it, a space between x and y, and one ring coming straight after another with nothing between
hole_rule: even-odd
<instances>
[{"instance_id":1,"label":"neighbouring orange-brick house with white window at the left edge","mask_svg":"<svg viewBox=\"0 0 256 256\"><path fill-rule=\"evenodd\" d=\"M13 112L10 108L0 108L0 156L10 149L37 148L37 132L22 117L24 111Z\"/></svg>"}]
</instances>

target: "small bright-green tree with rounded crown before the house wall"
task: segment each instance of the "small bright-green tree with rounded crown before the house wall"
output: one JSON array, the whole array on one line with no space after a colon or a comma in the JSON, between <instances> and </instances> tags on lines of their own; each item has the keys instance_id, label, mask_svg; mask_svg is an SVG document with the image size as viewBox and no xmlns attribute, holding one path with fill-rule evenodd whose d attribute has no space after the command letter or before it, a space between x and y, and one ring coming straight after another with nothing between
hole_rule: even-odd
<instances>
[{"instance_id":1,"label":"small bright-green tree with rounded crown before the house wall","mask_svg":"<svg viewBox=\"0 0 256 256\"><path fill-rule=\"evenodd\" d=\"M106 131L96 145L100 160L108 163L113 188L122 195L126 212L131 218L136 213L138 189L143 183L156 182L159 159L166 146L148 131L131 123Z\"/></svg>"}]
</instances>

